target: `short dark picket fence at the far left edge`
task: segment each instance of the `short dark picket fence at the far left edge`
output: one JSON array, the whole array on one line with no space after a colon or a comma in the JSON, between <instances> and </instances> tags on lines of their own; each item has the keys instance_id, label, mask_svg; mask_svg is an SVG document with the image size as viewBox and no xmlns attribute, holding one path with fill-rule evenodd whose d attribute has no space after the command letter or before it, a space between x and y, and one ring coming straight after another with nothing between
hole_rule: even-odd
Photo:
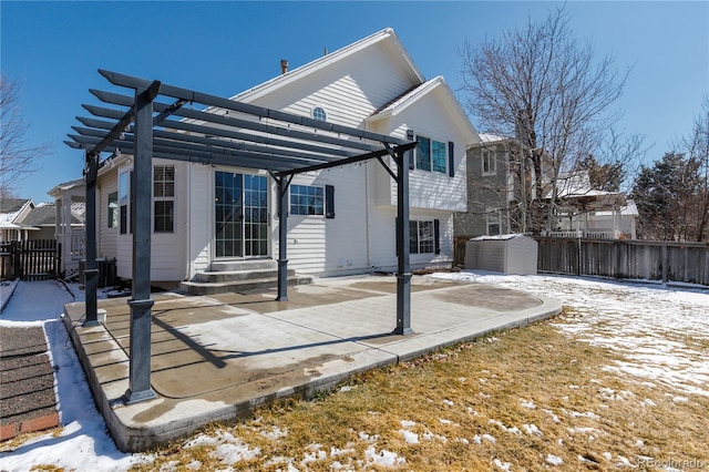
<instances>
[{"instance_id":1,"label":"short dark picket fence at the far left edge","mask_svg":"<svg viewBox=\"0 0 709 472\"><path fill-rule=\"evenodd\" d=\"M0 243L0 278L45 280L54 278L59 266L55 239Z\"/></svg>"}]
</instances>

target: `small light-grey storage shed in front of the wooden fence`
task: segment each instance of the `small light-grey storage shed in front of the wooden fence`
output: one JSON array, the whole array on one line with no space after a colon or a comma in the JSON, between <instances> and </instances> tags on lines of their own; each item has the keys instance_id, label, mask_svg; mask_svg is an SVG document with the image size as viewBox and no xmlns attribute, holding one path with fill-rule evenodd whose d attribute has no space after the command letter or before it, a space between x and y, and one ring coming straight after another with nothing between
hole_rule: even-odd
<instances>
[{"instance_id":1,"label":"small light-grey storage shed in front of the wooden fence","mask_svg":"<svg viewBox=\"0 0 709 472\"><path fill-rule=\"evenodd\" d=\"M479 236L465 244L465 268L534 275L537 246L534 239L521 234Z\"/></svg>"}]
</instances>

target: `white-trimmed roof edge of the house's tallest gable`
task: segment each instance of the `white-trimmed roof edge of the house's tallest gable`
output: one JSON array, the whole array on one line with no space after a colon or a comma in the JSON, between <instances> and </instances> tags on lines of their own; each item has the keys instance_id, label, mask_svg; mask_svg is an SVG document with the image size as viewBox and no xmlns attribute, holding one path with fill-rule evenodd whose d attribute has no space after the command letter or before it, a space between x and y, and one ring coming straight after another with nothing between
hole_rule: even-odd
<instances>
[{"instance_id":1,"label":"white-trimmed roof edge of the house's tallest gable","mask_svg":"<svg viewBox=\"0 0 709 472\"><path fill-rule=\"evenodd\" d=\"M321 58L310 61L307 64L286 72L285 74L277 75L274 79L270 79L251 89L240 92L232 96L230 100L250 102L258 96L270 93L274 90L280 89L281 86L285 86L297 80L304 79L312 74L314 72L325 69L335 62L349 58L350 55L363 49L370 48L381 41L390 41L393 47L399 50L400 54L398 54L398 59L402 61L407 69L409 69L411 74L415 78L417 82L422 83L425 81L425 78L413 62L413 59L411 59L411 57L404 49L403 44L399 40L399 37L397 37L397 34L394 33L394 30L391 28L384 28L383 30L378 31L367 38L354 41L353 43L348 44L345 48L338 49L335 52L328 53Z\"/></svg>"}]
</instances>

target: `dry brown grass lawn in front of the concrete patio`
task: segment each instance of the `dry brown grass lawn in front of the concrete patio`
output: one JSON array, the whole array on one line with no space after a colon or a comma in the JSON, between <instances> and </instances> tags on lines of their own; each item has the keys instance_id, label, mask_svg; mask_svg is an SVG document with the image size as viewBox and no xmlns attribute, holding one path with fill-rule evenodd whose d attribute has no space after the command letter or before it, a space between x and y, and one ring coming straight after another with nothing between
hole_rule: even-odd
<instances>
[{"instance_id":1,"label":"dry brown grass lawn in front of the concrete patio","mask_svg":"<svg viewBox=\"0 0 709 472\"><path fill-rule=\"evenodd\" d=\"M312 401L264 408L250 421L213 425L203 434L220 438L215 444L176 443L135 470L287 470L289 461L299 470L382 469L367 459L368 448L417 471L493 470L495 460L547 470L547 458L563 461L558 470L614 470L626 460L656 470L644 456L709 468L709 399L678 402L659 382L604 371L615 359L540 322L361 374ZM407 442L403 430L419 442ZM235 448L242 455L228 456Z\"/></svg>"}]
</instances>

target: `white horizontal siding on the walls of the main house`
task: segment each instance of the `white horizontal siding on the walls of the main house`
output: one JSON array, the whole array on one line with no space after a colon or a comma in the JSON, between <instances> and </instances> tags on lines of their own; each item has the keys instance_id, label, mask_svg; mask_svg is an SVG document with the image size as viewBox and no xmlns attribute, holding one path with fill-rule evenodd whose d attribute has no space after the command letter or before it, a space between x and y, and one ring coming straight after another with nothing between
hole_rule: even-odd
<instances>
[{"instance_id":1,"label":"white horizontal siding on the walls of the main house","mask_svg":"<svg viewBox=\"0 0 709 472\"><path fill-rule=\"evenodd\" d=\"M291 71L295 72L295 71ZM419 98L402 113L368 122L368 117L404 91L419 84L397 44L382 41L350 55L332 61L312 73L297 78L290 73L274 79L278 86L257 86L236 99L312 117L320 107L328 123L376 131L405 138L407 130L421 133L440 144L439 155L431 162L431 172L413 171L410 175L411 219L439 220L440 254L430 250L411 255L413 268L432 264L449 264L453 257L453 211L466 208L465 148L471 141L460 115L444 102L448 98L432 91ZM297 125L294 125L297 127ZM454 144L450 176L449 142ZM413 153L412 153L413 154ZM388 161L389 158L386 158ZM155 160L155 165L172 165L173 161ZM433 167L435 166L435 170ZM192 278L208 270L216 258L214 248L215 166L176 165L175 222L171 234L153 236L154 280ZM392 165L397 172L395 165ZM188 172L185 172L188 170ZM229 167L234 172L243 170ZM435 172L434 172L435 171ZM274 204L277 189L268 177L270 236L269 256L277 258L278 225ZM296 215L288 217L288 267L301 274L343 275L370 271L372 268L395 269L397 215L395 183L377 161L345 165L329 171L294 177L291 185L335 188L336 209L329 216ZM328 192L326 189L326 199ZM290 209L290 202L289 202ZM301 213L301 212L297 212ZM310 213L310 212L308 212ZM319 213L319 212L312 212ZM131 240L125 235L126 249ZM130 254L125 268L130 276ZM176 257L177 256L177 257Z\"/></svg>"}]
</instances>

